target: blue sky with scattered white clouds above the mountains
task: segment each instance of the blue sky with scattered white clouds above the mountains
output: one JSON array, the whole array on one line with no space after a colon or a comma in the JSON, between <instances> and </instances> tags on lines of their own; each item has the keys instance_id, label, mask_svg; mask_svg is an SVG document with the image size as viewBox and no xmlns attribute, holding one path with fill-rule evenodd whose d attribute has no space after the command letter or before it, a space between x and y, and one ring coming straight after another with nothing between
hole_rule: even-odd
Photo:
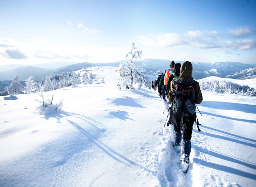
<instances>
[{"instance_id":1,"label":"blue sky with scattered white clouds above the mountains","mask_svg":"<svg viewBox=\"0 0 256 187\"><path fill-rule=\"evenodd\" d=\"M0 0L0 64L143 58L256 63L256 1Z\"/></svg>"}]
</instances>

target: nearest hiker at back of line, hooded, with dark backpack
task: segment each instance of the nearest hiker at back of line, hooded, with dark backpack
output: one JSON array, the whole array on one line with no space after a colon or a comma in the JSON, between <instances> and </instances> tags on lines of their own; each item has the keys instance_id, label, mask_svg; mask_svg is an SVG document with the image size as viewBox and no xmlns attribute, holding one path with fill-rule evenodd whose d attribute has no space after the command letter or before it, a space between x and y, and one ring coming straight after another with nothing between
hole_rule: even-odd
<instances>
[{"instance_id":1,"label":"nearest hiker at back of line, hooded, with dark backpack","mask_svg":"<svg viewBox=\"0 0 256 187\"><path fill-rule=\"evenodd\" d=\"M173 102L174 148L182 151L181 169L183 172L189 167L191 152L191 135L195 121L195 104L203 100L199 83L192 79L192 64L184 62L180 68L179 79L171 82L169 98ZM183 136L181 133L183 123ZM181 143L181 139L183 139Z\"/></svg>"}]
</instances>

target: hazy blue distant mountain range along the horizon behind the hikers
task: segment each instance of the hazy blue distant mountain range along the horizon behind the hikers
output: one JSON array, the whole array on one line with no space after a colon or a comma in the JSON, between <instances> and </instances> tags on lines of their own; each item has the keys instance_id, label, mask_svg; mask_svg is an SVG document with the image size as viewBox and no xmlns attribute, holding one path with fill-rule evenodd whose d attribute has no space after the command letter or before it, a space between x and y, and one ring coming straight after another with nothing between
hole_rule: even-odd
<instances>
[{"instance_id":1,"label":"hazy blue distant mountain range along the horizon behind the hikers","mask_svg":"<svg viewBox=\"0 0 256 187\"><path fill-rule=\"evenodd\" d=\"M0 81L1 80L12 80L15 75L19 76L21 80L25 80L30 75L33 75L34 80L41 81L42 78L46 77L46 75L59 74L65 71L77 71L82 68L88 68L90 66L119 66L120 63L129 61L121 60L118 62L110 62L110 63L77 63L63 66L58 69L44 69L32 66L19 67L13 70L2 71L0 73ZM146 71L153 72L164 72L168 69L171 60L162 60L162 59L144 59L144 60L134 60L134 62L140 67L145 69ZM175 61L175 63L183 63L184 61ZM194 79L202 79L205 77L216 76L216 77L226 77L228 75L234 74L233 77L236 77L235 74L247 70L250 68L254 68L256 64L243 64L240 62L215 62L215 63L207 63L207 62L192 62L193 64L193 78ZM39 64L43 65L43 64ZM49 67L50 63L46 64ZM55 64L59 65L59 63ZM1 66L0 66L1 68ZM0 70L1 71L1 70ZM244 72L246 73L246 72ZM248 72L247 72L248 73ZM251 72L249 76L246 78L253 78L254 72ZM231 77L229 77L231 78Z\"/></svg>"}]
</instances>

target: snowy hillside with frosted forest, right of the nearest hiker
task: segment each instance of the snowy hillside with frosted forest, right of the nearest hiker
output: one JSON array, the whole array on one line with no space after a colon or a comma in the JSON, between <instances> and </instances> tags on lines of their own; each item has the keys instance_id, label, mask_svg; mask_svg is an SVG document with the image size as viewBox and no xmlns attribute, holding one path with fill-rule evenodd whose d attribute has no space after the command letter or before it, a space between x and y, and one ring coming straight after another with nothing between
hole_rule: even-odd
<instances>
[{"instance_id":1,"label":"snowy hillside with frosted forest, right of the nearest hiker","mask_svg":"<svg viewBox=\"0 0 256 187\"><path fill-rule=\"evenodd\" d=\"M256 79L235 80L213 76L197 81L199 82L201 90L223 94L256 96L256 90L253 88L253 85L256 85Z\"/></svg>"}]
</instances>

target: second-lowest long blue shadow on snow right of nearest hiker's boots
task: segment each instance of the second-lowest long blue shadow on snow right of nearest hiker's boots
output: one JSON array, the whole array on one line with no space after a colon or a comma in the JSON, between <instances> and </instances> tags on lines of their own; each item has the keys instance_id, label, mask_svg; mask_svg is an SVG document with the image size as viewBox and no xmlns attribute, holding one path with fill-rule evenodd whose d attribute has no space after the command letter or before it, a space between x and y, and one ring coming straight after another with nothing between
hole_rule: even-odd
<instances>
[{"instance_id":1,"label":"second-lowest long blue shadow on snow right of nearest hiker's boots","mask_svg":"<svg viewBox=\"0 0 256 187\"><path fill-rule=\"evenodd\" d=\"M237 159L234 159L232 157L229 157L229 155L224 155L223 153L219 154L219 153L214 152L214 151L203 149L203 148L201 148L199 146L196 146L196 145L193 145L193 148L195 150L199 151L199 152L204 153L204 154L208 154L208 155L211 155L213 157L217 157L217 158L220 158L220 159L223 159L223 160L227 160L227 161L230 161L230 162L235 162L235 163L238 163L238 164L241 164L243 166L246 166L246 167L249 167L249 168L252 168L252 169L256 170L256 165L255 164L243 162L241 160L237 160Z\"/></svg>"}]
</instances>

